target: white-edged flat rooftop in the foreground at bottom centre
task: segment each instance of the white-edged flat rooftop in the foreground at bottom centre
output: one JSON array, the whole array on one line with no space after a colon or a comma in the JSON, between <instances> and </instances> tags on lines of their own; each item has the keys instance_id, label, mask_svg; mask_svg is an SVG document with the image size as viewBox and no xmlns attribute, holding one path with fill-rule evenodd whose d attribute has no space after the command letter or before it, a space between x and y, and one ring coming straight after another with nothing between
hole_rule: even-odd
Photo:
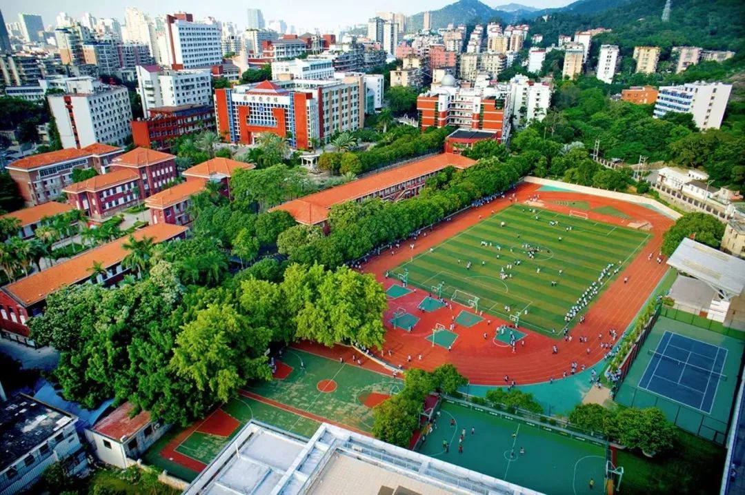
<instances>
[{"instance_id":1,"label":"white-edged flat rooftop in the foreground at bottom centre","mask_svg":"<svg viewBox=\"0 0 745 495\"><path fill-rule=\"evenodd\" d=\"M250 421L191 482L196 494L524 494L535 491L347 429L309 441Z\"/></svg>"}]
</instances>

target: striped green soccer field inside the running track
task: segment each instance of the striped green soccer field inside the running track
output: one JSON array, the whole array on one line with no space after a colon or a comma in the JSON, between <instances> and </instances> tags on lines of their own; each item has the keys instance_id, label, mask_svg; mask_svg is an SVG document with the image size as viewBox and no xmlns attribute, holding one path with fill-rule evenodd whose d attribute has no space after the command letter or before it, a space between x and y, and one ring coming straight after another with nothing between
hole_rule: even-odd
<instances>
[{"instance_id":1,"label":"striped green soccer field inside the running track","mask_svg":"<svg viewBox=\"0 0 745 495\"><path fill-rule=\"evenodd\" d=\"M566 230L569 226L571 231ZM484 313L507 319L505 307L510 307L510 314L520 311L520 325L559 338L565 314L592 282L597 283L600 271L611 263L618 266L619 261L624 269L650 237L626 227L512 205L396 271L408 269L409 284L424 290L434 280L445 281L444 294L455 295L458 290L466 297L476 296ZM534 259L527 255L526 243L540 249ZM466 269L468 261L471 269ZM502 280L502 269L512 278ZM603 278L600 290L613 279L613 275ZM552 281L557 285L552 286Z\"/></svg>"}]
</instances>

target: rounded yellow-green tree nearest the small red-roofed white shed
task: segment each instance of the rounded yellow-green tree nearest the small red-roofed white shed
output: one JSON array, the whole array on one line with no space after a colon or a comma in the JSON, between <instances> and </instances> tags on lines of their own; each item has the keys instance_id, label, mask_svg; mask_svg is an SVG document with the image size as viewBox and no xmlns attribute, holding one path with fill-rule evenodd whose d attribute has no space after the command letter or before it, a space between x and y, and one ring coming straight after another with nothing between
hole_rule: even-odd
<instances>
[{"instance_id":1,"label":"rounded yellow-green tree nearest the small red-roofed white shed","mask_svg":"<svg viewBox=\"0 0 745 495\"><path fill-rule=\"evenodd\" d=\"M176 374L215 401L227 402L247 380L270 380L267 328L250 328L229 304L211 304L177 336Z\"/></svg>"}]
</instances>

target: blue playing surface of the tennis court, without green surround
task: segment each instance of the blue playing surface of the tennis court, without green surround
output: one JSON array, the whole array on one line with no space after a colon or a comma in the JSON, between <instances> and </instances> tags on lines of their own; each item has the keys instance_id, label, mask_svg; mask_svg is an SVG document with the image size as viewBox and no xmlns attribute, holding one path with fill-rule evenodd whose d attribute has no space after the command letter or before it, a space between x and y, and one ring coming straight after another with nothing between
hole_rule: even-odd
<instances>
[{"instance_id":1,"label":"blue playing surface of the tennis court, without green surround","mask_svg":"<svg viewBox=\"0 0 745 495\"><path fill-rule=\"evenodd\" d=\"M665 332L639 381L639 388L710 413L720 380L726 348Z\"/></svg>"}]
</instances>

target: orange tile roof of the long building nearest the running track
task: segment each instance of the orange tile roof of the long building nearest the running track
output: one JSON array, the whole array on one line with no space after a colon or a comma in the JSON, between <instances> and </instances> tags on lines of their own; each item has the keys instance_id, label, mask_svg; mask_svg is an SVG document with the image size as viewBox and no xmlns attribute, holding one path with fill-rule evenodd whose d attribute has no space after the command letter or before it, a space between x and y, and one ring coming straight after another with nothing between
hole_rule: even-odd
<instances>
[{"instance_id":1,"label":"orange tile roof of the long building nearest the running track","mask_svg":"<svg viewBox=\"0 0 745 495\"><path fill-rule=\"evenodd\" d=\"M393 185L406 182L410 179L416 179L428 173L442 170L448 165L457 168L467 168L475 163L475 160L462 155L442 153L381 173L375 173L364 179L358 179L335 188L326 189L326 191L320 191L320 193L294 199L294 201L276 206L272 210L285 210L297 222L305 223L305 225L321 223L329 218L329 208L333 205L365 197L368 194L382 191L385 188L390 188Z\"/></svg>"}]
</instances>

